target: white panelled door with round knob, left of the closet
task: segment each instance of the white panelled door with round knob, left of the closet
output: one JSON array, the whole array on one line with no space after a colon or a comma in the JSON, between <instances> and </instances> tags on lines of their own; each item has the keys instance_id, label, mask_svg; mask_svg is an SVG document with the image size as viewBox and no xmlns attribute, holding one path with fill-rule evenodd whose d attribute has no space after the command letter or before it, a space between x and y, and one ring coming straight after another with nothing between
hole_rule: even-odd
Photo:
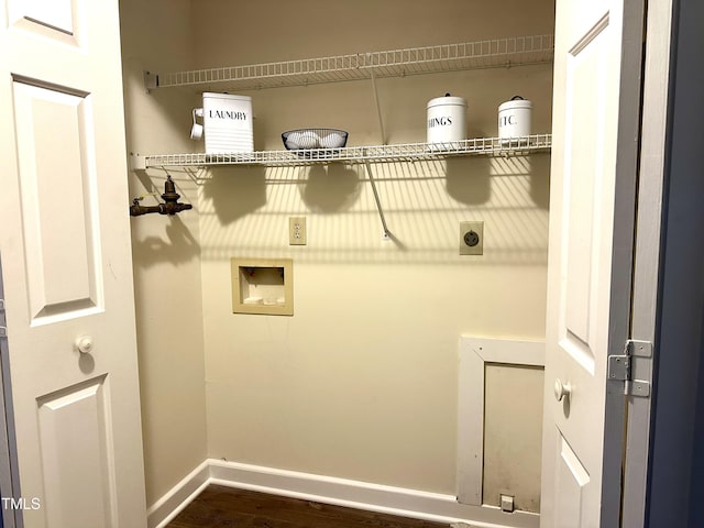
<instances>
[{"instance_id":1,"label":"white panelled door with round knob, left of the closet","mask_svg":"<svg viewBox=\"0 0 704 528\"><path fill-rule=\"evenodd\" d=\"M0 79L24 526L143 527L118 0L0 0Z\"/></svg>"}]
</instances>

